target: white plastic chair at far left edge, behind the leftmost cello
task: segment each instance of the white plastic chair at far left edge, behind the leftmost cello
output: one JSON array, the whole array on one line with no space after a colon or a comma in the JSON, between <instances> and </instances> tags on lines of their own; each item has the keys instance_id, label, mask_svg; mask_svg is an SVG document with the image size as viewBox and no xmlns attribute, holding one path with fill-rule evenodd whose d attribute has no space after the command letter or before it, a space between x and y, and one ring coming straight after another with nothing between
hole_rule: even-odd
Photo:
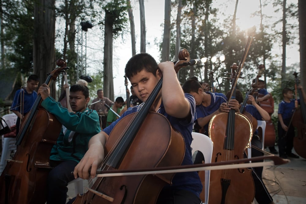
<instances>
[{"instance_id":1,"label":"white plastic chair at far left edge, behind the leftmost cello","mask_svg":"<svg viewBox=\"0 0 306 204\"><path fill-rule=\"evenodd\" d=\"M12 113L12 114L4 115L2 118L5 120L7 125L11 127L16 124L17 117L18 116L16 114ZM4 127L6 127L6 123L2 121L2 124ZM2 135L2 154L1 154L1 160L0 160L0 175L6 165L5 160L9 159L11 150L17 149L17 146L15 145L15 143L16 143L16 138L5 138Z\"/></svg>"}]
</instances>

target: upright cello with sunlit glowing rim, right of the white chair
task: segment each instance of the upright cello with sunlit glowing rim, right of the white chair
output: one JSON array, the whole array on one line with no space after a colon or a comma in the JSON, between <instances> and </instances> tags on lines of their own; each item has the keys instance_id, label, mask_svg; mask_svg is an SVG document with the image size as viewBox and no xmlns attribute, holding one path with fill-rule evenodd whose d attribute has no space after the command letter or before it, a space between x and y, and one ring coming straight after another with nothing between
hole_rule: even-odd
<instances>
[{"instance_id":1,"label":"upright cello with sunlit glowing rim, right of the white chair","mask_svg":"<svg viewBox=\"0 0 306 204\"><path fill-rule=\"evenodd\" d=\"M248 38L244 55L241 59L237 73L232 70L232 88L228 101L235 96L237 79L244 64L252 37ZM244 150L249 147L252 139L253 128L250 120L243 114L231 109L229 113L219 112L209 122L209 135L214 143L211 162L228 161L243 158ZM237 168L232 170L211 171L209 201L217 204L227 203L252 203L255 197L254 181L251 170Z\"/></svg>"}]
</instances>

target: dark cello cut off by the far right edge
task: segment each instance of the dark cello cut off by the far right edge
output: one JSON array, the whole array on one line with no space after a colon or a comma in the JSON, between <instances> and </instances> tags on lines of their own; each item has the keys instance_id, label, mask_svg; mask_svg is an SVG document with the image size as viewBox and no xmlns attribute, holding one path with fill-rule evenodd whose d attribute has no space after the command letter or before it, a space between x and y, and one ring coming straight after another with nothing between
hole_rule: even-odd
<instances>
[{"instance_id":1,"label":"dark cello cut off by the far right edge","mask_svg":"<svg viewBox=\"0 0 306 204\"><path fill-rule=\"evenodd\" d=\"M295 88L300 96L300 108L295 110L292 118L292 125L297 128L297 137L293 138L293 147L298 155L306 159L306 105L301 89L297 89L300 84L297 72L294 72L293 75L295 76Z\"/></svg>"}]
</instances>

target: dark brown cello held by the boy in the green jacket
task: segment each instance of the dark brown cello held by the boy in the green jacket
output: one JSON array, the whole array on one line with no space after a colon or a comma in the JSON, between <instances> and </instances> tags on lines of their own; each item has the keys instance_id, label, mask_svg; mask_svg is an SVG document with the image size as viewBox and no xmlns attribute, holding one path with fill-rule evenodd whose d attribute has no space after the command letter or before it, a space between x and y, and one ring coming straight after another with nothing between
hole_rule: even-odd
<instances>
[{"instance_id":1,"label":"dark brown cello held by the boy in the green jacket","mask_svg":"<svg viewBox=\"0 0 306 204\"><path fill-rule=\"evenodd\" d=\"M46 84L50 85L58 74L66 69L65 62L58 60ZM7 161L0 176L0 203L41 203L46 202L46 183L49 173L49 157L52 146L61 131L61 123L56 117L40 106L38 95L31 111L27 114L17 135L17 151L12 160Z\"/></svg>"}]
</instances>

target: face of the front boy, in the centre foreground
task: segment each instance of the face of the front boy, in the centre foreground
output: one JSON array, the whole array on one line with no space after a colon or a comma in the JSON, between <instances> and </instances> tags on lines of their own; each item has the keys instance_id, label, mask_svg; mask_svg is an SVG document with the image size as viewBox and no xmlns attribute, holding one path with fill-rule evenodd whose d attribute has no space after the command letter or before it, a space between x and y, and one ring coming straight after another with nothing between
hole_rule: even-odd
<instances>
[{"instance_id":1,"label":"face of the front boy, in the centre foreground","mask_svg":"<svg viewBox=\"0 0 306 204\"><path fill-rule=\"evenodd\" d=\"M156 71L157 73L158 71ZM154 76L151 72L142 70L129 78L135 95L142 101L145 101L159 80L158 75Z\"/></svg>"}]
</instances>

